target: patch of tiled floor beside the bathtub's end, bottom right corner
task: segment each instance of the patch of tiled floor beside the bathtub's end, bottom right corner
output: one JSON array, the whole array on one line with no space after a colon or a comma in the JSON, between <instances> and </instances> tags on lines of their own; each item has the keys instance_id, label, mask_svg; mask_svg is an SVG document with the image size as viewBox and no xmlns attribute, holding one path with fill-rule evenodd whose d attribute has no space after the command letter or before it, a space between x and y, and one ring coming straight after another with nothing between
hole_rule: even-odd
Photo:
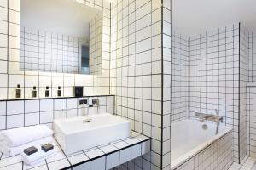
<instances>
[{"instance_id":1,"label":"patch of tiled floor beside the bathtub's end, bottom right corner","mask_svg":"<svg viewBox=\"0 0 256 170\"><path fill-rule=\"evenodd\" d=\"M246 156L241 164L233 163L229 170L256 170L256 158Z\"/></svg>"}]
</instances>

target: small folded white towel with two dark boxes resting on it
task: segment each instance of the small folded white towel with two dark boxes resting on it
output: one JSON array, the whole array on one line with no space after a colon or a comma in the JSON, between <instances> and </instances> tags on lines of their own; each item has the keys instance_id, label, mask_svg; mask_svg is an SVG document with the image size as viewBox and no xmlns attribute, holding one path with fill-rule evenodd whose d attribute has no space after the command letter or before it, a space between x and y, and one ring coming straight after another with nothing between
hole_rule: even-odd
<instances>
[{"instance_id":1,"label":"small folded white towel with two dark boxes resting on it","mask_svg":"<svg viewBox=\"0 0 256 170\"><path fill-rule=\"evenodd\" d=\"M38 152L27 156L25 153L21 154L21 160L24 161L27 165L34 165L41 161L44 161L45 159L48 159L51 156L55 156L56 150L55 148L52 150L49 150L48 152L44 152L44 150L41 150L40 147L38 147Z\"/></svg>"}]
</instances>

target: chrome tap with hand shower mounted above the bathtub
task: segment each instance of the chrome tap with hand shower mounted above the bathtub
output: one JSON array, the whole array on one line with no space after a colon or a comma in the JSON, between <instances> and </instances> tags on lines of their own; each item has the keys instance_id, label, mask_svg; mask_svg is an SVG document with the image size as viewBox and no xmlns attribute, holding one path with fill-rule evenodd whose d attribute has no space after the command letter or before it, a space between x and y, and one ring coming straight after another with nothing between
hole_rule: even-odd
<instances>
[{"instance_id":1,"label":"chrome tap with hand shower mounted above the bathtub","mask_svg":"<svg viewBox=\"0 0 256 170\"><path fill-rule=\"evenodd\" d=\"M216 122L217 126L216 126L216 131L215 134L218 134L218 130L219 130L219 123L223 122L223 116L219 116L218 110L215 109L214 110L216 115L213 114L204 114L204 113L195 113L195 119L199 119L200 122L204 122L204 121L212 121L212 122Z\"/></svg>"}]
</instances>

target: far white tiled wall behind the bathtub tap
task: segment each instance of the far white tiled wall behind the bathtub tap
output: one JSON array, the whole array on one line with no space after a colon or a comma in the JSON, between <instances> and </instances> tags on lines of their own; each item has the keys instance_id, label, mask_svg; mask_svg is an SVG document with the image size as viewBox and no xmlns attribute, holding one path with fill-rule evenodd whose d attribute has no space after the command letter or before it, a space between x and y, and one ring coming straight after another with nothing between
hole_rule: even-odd
<instances>
[{"instance_id":1,"label":"far white tiled wall behind the bathtub tap","mask_svg":"<svg viewBox=\"0 0 256 170\"><path fill-rule=\"evenodd\" d=\"M239 24L190 37L190 111L224 116L239 161Z\"/></svg>"}]
</instances>

